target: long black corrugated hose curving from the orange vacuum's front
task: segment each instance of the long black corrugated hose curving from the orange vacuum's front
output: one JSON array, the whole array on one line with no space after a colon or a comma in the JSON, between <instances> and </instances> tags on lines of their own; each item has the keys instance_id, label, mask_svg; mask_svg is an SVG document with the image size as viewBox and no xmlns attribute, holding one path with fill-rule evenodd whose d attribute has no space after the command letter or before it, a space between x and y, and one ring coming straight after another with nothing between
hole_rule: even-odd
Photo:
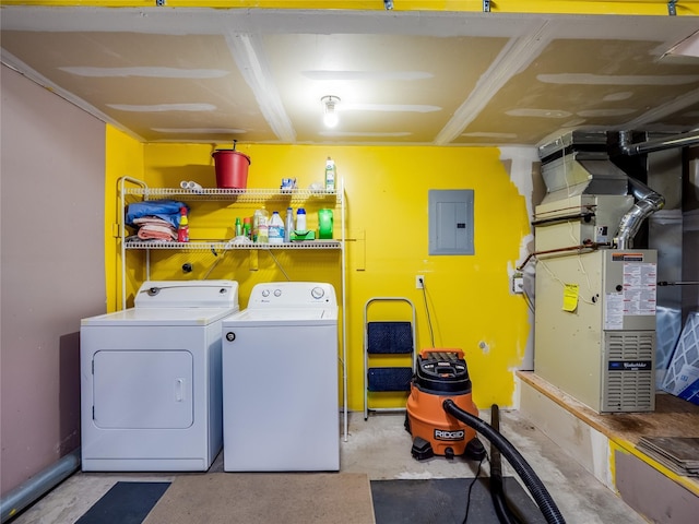
<instances>
[{"instance_id":1,"label":"long black corrugated hose curving from the orange vacuum's front","mask_svg":"<svg viewBox=\"0 0 699 524\"><path fill-rule=\"evenodd\" d=\"M534 497L536 505L538 505L538 509L541 510L548 524L566 523L562 515L560 514L560 511L558 511L554 499L552 499L550 495L548 495L548 491L546 490L544 484L536 476L534 469L532 469L532 467L526 463L520 452L517 451L517 449L510 443L510 441L508 441L499 432L495 431L484 420L481 420L478 417L461 409L459 406L457 406L457 404L454 404L452 400L447 398L442 403L442 407L449 415L461 420L466 426L475 429L477 432L488 439L493 444L495 444L498 450L500 450L500 452L505 455L505 457L518 473L518 475L526 486L526 489L529 489L530 493L532 493L532 497Z\"/></svg>"}]
</instances>

